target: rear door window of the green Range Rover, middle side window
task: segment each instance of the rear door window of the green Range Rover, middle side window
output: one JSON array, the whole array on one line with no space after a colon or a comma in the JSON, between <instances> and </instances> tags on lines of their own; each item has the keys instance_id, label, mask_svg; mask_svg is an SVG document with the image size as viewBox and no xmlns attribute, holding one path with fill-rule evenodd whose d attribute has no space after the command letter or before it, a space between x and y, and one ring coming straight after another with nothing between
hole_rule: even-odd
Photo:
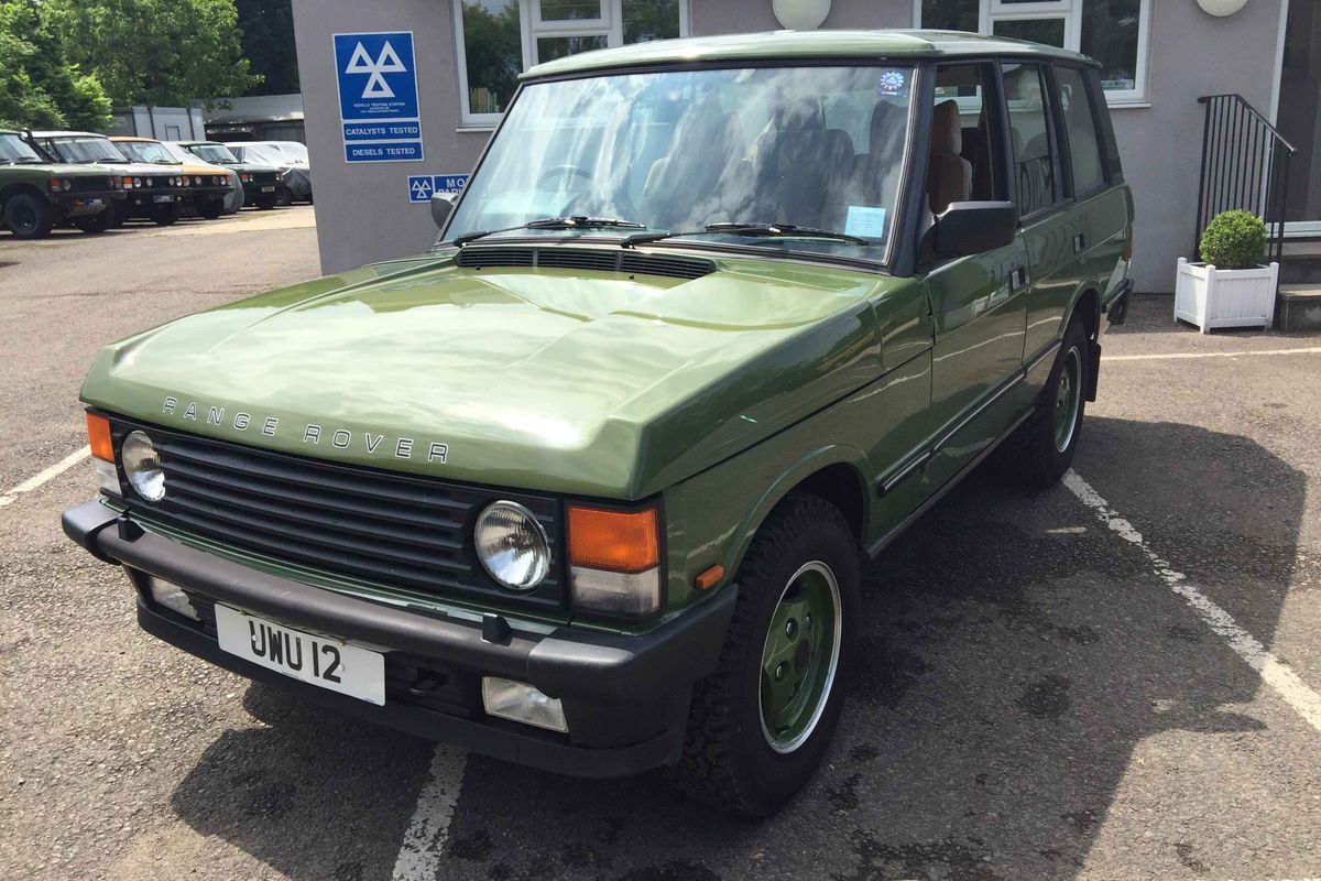
<instances>
[{"instance_id":1,"label":"rear door window of the green Range Rover, middle side window","mask_svg":"<svg viewBox=\"0 0 1321 881\"><path fill-rule=\"evenodd\" d=\"M1042 65L1007 63L1001 70L1018 214L1028 217L1063 198L1050 128L1050 87Z\"/></svg>"}]
</instances>

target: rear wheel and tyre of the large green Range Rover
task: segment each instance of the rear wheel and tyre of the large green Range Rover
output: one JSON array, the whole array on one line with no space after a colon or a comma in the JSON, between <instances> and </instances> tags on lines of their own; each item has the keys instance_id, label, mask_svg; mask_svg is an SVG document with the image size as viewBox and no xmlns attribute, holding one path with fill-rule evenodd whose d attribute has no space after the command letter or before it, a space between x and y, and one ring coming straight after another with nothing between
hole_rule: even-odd
<instances>
[{"instance_id":1,"label":"rear wheel and tyre of the large green Range Rover","mask_svg":"<svg viewBox=\"0 0 1321 881\"><path fill-rule=\"evenodd\" d=\"M1036 409L1005 445L1008 461L1032 489L1054 486L1073 465L1087 409L1090 345L1082 321L1074 316Z\"/></svg>"}]
</instances>

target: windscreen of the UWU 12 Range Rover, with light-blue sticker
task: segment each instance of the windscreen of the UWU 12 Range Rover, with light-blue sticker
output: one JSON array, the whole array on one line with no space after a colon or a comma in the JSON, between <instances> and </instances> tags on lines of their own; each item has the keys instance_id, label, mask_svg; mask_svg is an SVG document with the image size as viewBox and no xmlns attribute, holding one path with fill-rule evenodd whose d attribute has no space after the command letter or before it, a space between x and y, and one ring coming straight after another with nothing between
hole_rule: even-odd
<instances>
[{"instance_id":1,"label":"windscreen of the UWU 12 Range Rover, with light-blue sticker","mask_svg":"<svg viewBox=\"0 0 1321 881\"><path fill-rule=\"evenodd\" d=\"M616 218L707 243L882 262L911 82L910 67L801 66L530 85L465 188L446 238L553 217ZM707 229L719 223L793 225L851 239Z\"/></svg>"}]
</instances>

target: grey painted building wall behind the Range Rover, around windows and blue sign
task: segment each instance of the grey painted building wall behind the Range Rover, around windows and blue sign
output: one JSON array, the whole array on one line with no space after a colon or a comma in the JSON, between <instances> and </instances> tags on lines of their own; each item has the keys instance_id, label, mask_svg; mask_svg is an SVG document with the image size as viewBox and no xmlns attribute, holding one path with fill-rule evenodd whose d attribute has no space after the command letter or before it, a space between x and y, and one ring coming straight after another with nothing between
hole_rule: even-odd
<instances>
[{"instance_id":1,"label":"grey painted building wall behind the Range Rover, around windows and blue sign","mask_svg":"<svg viewBox=\"0 0 1321 881\"><path fill-rule=\"evenodd\" d=\"M1299 0L1296 0L1299 1ZM691 0L694 36L773 30L770 0ZM1199 95L1239 92L1269 112L1280 4L1255 0L1223 18L1194 0L1152 0L1148 103L1112 111L1124 170L1137 203L1133 273L1139 291L1169 292L1174 265L1192 252L1202 143ZM908 28L911 0L835 0L826 28ZM489 131L462 128L448 0L324 3L293 0L306 136L317 169L317 226L326 272L416 254L435 227L410 205L410 174L465 173ZM425 162L345 162L332 37L413 30Z\"/></svg>"}]
</instances>

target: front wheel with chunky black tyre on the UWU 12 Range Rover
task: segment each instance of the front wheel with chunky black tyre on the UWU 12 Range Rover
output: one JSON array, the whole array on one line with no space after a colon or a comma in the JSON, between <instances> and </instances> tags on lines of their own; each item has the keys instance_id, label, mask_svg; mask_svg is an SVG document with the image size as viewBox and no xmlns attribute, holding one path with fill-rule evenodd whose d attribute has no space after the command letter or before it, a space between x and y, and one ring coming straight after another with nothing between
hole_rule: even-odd
<instances>
[{"instance_id":1,"label":"front wheel with chunky black tyre on the UWU 12 Range Rover","mask_svg":"<svg viewBox=\"0 0 1321 881\"><path fill-rule=\"evenodd\" d=\"M839 510L786 498L738 571L738 601L716 672L697 684L683 793L768 816L820 765L839 725L859 608L857 543Z\"/></svg>"}]
</instances>

